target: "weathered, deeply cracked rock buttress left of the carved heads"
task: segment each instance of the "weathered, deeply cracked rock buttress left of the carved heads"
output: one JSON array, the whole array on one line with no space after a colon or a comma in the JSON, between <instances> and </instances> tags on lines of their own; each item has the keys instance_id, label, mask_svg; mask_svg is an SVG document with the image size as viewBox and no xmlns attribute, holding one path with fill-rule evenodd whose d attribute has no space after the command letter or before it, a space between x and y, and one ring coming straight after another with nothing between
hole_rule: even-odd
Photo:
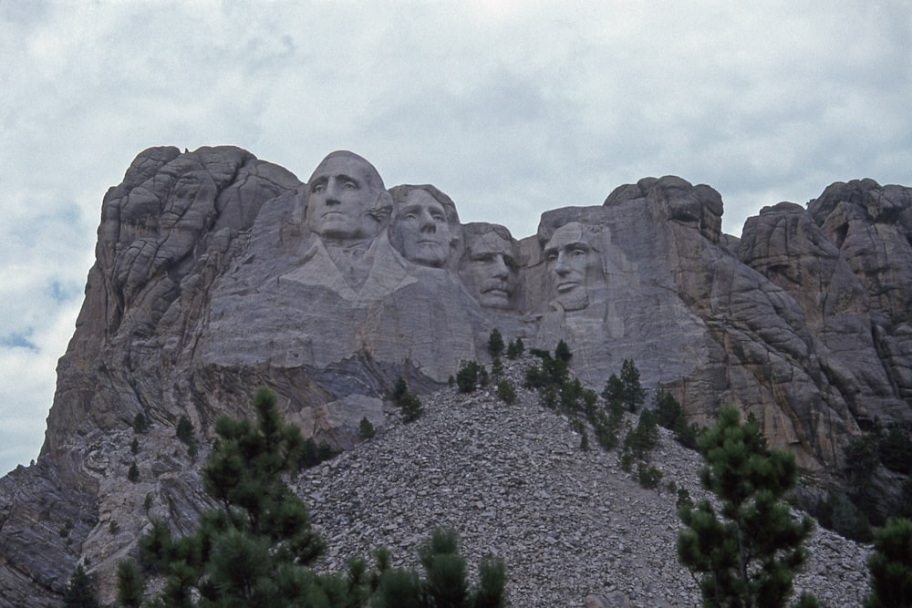
<instances>
[{"instance_id":1,"label":"weathered, deeply cracked rock buttress left of the carved heads","mask_svg":"<svg viewBox=\"0 0 912 608\"><path fill-rule=\"evenodd\" d=\"M60 360L43 457L74 437L124 428L138 413L199 419L192 396L174 383L191 371L212 284L264 202L298 186L288 171L235 148L149 149L133 161L102 204L96 263Z\"/></svg>"}]
</instances>

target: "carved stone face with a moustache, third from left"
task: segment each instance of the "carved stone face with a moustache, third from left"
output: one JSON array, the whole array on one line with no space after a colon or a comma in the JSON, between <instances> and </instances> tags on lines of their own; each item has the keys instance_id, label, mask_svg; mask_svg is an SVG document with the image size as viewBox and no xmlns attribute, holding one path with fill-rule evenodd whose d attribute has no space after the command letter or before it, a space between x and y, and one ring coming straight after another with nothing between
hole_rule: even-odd
<instances>
[{"instance_id":1,"label":"carved stone face with a moustache, third from left","mask_svg":"<svg viewBox=\"0 0 912 608\"><path fill-rule=\"evenodd\" d=\"M516 289L516 262L513 243L497 232L472 236L461 267L463 283L482 306L510 308Z\"/></svg>"}]
</instances>

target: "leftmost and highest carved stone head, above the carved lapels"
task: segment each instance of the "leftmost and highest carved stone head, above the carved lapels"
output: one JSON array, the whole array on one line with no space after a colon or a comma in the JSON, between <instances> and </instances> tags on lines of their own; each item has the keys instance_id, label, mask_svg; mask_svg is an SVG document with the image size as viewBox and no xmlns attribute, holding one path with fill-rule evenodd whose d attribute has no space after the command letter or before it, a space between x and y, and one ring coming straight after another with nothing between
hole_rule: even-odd
<instances>
[{"instance_id":1,"label":"leftmost and highest carved stone head, above the carved lapels","mask_svg":"<svg viewBox=\"0 0 912 608\"><path fill-rule=\"evenodd\" d=\"M375 172L355 155L330 154L307 182L307 225L333 240L359 240L374 235L378 221L368 213L378 198L370 186Z\"/></svg>"}]
</instances>

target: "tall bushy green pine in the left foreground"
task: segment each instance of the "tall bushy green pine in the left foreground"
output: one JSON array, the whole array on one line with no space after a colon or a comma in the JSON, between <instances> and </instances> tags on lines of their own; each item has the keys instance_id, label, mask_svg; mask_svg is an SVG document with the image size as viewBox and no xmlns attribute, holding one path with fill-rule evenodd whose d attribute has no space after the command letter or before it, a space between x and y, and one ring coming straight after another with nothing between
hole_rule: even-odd
<instances>
[{"instance_id":1,"label":"tall bushy green pine in the left foreground","mask_svg":"<svg viewBox=\"0 0 912 608\"><path fill-rule=\"evenodd\" d=\"M327 598L333 587L332 577L303 567L323 543L283 480L300 459L300 430L283 423L268 389L256 392L254 409L255 424L227 417L215 424L218 439L202 485L218 507L202 514L199 529L173 539L153 520L140 539L143 562L165 577L158 598L165 605L196 605L196 597L219 605L285 605ZM119 572L119 587L132 584L127 574Z\"/></svg>"}]
</instances>

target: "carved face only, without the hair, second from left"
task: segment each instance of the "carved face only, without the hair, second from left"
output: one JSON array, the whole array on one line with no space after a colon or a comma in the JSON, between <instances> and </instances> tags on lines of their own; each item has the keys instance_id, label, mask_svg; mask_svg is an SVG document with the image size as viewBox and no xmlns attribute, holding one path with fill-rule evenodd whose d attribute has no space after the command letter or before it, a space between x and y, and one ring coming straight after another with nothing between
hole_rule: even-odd
<instances>
[{"instance_id":1,"label":"carved face only, without the hair, second from left","mask_svg":"<svg viewBox=\"0 0 912 608\"><path fill-rule=\"evenodd\" d=\"M393 230L402 255L424 266L442 266L450 257L450 223L430 192L413 190L396 210Z\"/></svg>"}]
</instances>

